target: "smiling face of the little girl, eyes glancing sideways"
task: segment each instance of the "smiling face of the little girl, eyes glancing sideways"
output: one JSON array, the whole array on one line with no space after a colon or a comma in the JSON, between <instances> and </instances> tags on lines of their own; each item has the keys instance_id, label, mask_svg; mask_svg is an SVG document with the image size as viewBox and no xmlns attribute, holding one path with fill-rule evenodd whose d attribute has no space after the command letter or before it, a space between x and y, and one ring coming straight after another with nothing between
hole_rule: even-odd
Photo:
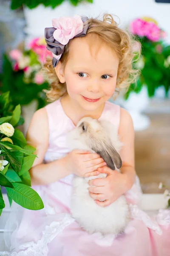
<instances>
[{"instance_id":1,"label":"smiling face of the little girl, eyes glancing sideways","mask_svg":"<svg viewBox=\"0 0 170 256\"><path fill-rule=\"evenodd\" d=\"M90 40L94 38L74 39L63 73L70 99L85 111L94 111L111 98L119 66L113 50L98 38Z\"/></svg>"}]
</instances>

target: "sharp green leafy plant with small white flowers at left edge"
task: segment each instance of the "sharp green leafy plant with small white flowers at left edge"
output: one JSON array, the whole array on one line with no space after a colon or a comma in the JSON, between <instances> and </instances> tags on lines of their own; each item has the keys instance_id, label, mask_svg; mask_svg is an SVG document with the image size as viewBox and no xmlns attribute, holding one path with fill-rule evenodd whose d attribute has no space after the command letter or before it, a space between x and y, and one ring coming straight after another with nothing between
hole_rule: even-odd
<instances>
[{"instance_id":1,"label":"sharp green leafy plant with small white flowers at left edge","mask_svg":"<svg viewBox=\"0 0 170 256\"><path fill-rule=\"evenodd\" d=\"M0 215L5 207L1 186L6 187L9 203L12 200L32 210L42 209L40 196L31 186L29 169L36 157L35 148L27 145L17 129L23 123L21 108L11 105L9 92L0 95Z\"/></svg>"}]
</instances>

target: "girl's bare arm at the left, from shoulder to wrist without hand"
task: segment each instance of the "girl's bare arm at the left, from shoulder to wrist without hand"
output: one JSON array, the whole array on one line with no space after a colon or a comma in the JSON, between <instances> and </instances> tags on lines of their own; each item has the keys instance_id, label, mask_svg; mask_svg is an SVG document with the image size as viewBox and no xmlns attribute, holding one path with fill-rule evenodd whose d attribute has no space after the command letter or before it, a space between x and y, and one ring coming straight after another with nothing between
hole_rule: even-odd
<instances>
[{"instance_id":1,"label":"girl's bare arm at the left, from shoulder to wrist without hand","mask_svg":"<svg viewBox=\"0 0 170 256\"><path fill-rule=\"evenodd\" d=\"M28 145L37 148L35 151L37 157L30 169L32 185L47 185L69 174L67 169L63 168L65 158L43 163L48 148L48 136L48 116L45 108L41 108L34 113L26 134Z\"/></svg>"}]
</instances>

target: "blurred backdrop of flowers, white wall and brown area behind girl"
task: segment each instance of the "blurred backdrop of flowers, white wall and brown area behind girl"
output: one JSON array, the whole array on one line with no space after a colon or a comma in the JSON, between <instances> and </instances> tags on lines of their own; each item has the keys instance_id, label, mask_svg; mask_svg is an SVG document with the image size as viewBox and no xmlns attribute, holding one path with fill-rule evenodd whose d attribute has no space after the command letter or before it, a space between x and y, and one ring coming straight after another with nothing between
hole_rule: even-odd
<instances>
[{"instance_id":1,"label":"blurred backdrop of flowers, white wall and brown area behind girl","mask_svg":"<svg viewBox=\"0 0 170 256\"><path fill-rule=\"evenodd\" d=\"M141 74L116 104L126 108L135 128L136 172L144 193L170 188L170 3L168 0L0 0L0 93L10 91L11 104L21 105L26 133L34 111L46 103L49 81L40 69L45 50L44 28L51 19L76 14L116 15L120 27L139 39L142 55L134 63ZM23 3L23 4L22 4ZM119 18L118 18L119 17ZM136 49L140 47L136 45Z\"/></svg>"}]
</instances>

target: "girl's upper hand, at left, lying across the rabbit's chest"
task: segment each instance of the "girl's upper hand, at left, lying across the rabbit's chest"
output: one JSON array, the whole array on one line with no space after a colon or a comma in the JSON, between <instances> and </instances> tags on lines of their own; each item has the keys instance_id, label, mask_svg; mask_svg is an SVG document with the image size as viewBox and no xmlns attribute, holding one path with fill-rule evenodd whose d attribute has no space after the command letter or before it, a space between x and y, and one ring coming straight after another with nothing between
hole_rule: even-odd
<instances>
[{"instance_id":1,"label":"girl's upper hand, at left, lying across the rabbit's chest","mask_svg":"<svg viewBox=\"0 0 170 256\"><path fill-rule=\"evenodd\" d=\"M98 175L99 167L107 164L99 154L84 150L73 150L65 157L66 169L79 177L90 177Z\"/></svg>"}]
</instances>

